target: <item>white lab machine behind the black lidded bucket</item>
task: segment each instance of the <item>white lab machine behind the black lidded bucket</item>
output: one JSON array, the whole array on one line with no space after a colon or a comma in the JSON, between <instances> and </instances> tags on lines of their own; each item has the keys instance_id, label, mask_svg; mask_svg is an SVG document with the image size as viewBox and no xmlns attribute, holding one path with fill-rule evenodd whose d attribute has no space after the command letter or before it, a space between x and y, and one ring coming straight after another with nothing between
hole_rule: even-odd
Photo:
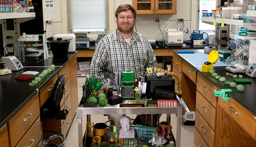
<instances>
[{"instance_id":1,"label":"white lab machine behind the black lidded bucket","mask_svg":"<svg viewBox=\"0 0 256 147\"><path fill-rule=\"evenodd\" d=\"M57 38L62 38L62 40L70 40L70 44L68 46L69 53L76 51L76 35L75 34L56 34L53 36L53 40L57 40Z\"/></svg>"}]
</instances>

